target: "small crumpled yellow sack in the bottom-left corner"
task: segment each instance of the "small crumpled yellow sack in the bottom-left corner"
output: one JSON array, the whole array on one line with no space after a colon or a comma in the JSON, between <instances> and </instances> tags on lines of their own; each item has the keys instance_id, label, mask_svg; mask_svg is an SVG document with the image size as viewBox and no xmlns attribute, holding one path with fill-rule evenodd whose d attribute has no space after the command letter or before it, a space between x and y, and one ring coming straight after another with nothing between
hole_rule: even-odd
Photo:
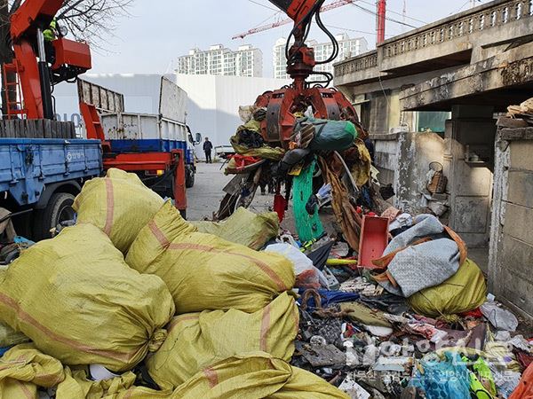
<instances>
[{"instance_id":1,"label":"small crumpled yellow sack in the bottom-left corner","mask_svg":"<svg viewBox=\"0 0 533 399\"><path fill-rule=\"evenodd\" d=\"M60 361L32 344L13 347L0 358L0 399L37 399L37 387L55 387L63 379Z\"/></svg>"}]
</instances>

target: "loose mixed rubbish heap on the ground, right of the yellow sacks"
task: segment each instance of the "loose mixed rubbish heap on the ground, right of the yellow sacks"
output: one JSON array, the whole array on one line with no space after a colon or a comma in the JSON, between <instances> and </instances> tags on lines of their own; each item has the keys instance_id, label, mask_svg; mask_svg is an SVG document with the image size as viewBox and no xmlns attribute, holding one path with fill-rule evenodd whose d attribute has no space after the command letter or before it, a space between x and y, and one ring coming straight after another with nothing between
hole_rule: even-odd
<instances>
[{"instance_id":1,"label":"loose mixed rubbish heap on the ground, right of the yellow sacks","mask_svg":"<svg viewBox=\"0 0 533 399\"><path fill-rule=\"evenodd\" d=\"M352 398L529 398L533 339L487 293L463 241L434 215L393 214L384 249L365 229L384 218L363 216L363 262L329 238L274 245L297 270L291 364Z\"/></svg>"}]
</instances>

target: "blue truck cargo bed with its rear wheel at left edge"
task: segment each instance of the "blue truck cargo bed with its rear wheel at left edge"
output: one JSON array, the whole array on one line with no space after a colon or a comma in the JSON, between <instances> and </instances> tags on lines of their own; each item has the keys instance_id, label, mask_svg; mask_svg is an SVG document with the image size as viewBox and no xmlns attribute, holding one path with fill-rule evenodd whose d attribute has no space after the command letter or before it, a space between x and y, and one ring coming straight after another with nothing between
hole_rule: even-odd
<instances>
[{"instance_id":1,"label":"blue truck cargo bed with its rear wheel at left edge","mask_svg":"<svg viewBox=\"0 0 533 399\"><path fill-rule=\"evenodd\" d=\"M101 173L99 140L0 138L0 207L30 239L51 238L54 227L73 219L76 195Z\"/></svg>"}]
</instances>

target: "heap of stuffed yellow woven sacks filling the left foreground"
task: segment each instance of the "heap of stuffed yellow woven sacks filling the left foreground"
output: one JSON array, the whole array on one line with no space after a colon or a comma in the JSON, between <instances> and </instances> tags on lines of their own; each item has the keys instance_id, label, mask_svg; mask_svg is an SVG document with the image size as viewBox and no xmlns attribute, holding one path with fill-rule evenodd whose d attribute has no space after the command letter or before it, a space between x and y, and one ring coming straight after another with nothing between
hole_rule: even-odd
<instances>
[{"instance_id":1,"label":"heap of stuffed yellow woven sacks filling the left foreground","mask_svg":"<svg viewBox=\"0 0 533 399\"><path fill-rule=\"evenodd\" d=\"M289 260L198 232L120 170L75 208L0 273L0 325L31 340L0 358L0 399L348 397L289 364ZM96 364L115 375L93 380Z\"/></svg>"}]
</instances>

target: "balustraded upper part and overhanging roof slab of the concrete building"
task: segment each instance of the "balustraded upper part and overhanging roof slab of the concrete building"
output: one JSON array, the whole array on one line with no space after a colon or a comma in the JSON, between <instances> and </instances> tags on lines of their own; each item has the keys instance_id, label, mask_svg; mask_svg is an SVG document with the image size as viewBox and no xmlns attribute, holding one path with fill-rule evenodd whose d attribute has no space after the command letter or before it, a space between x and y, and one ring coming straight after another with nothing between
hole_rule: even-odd
<instances>
[{"instance_id":1,"label":"balustraded upper part and overhanging roof slab of the concrete building","mask_svg":"<svg viewBox=\"0 0 533 399\"><path fill-rule=\"evenodd\" d=\"M529 49L523 44L530 41L533 2L496 0L395 36L377 50L338 63L335 86L359 105L362 120L372 132L388 133L402 123L416 131L416 115L402 114L402 109L450 111L452 103L438 103L446 102L449 96L466 95L468 88L483 93L478 96L480 104L496 106L497 110L504 109L510 98L527 97L533 76L530 60L524 60ZM496 82L494 75L501 72L506 57L521 64L508 65L508 73ZM520 68L524 74L516 72ZM513 82L516 78L520 78L517 85ZM457 94L449 90L450 80L457 81ZM422 83L424 87L405 90ZM505 98L502 92L485 95L501 88ZM465 103L472 104L470 99ZM384 109L388 109L386 117Z\"/></svg>"}]
</instances>

